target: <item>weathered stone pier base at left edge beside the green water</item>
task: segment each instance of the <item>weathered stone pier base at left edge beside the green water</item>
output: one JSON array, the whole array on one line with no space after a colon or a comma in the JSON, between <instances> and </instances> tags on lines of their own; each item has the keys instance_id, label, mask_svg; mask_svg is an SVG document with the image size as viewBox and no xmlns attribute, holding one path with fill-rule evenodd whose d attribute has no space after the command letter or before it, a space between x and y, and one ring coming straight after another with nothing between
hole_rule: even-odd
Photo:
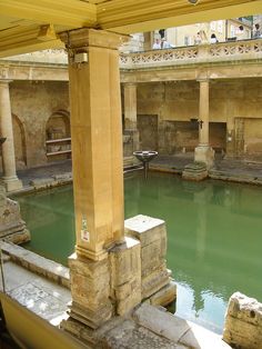
<instances>
[{"instance_id":1,"label":"weathered stone pier base at left edge beside the green water","mask_svg":"<svg viewBox=\"0 0 262 349\"><path fill-rule=\"evenodd\" d=\"M0 240L22 243L30 240L30 232L21 219L19 203L4 195L0 185Z\"/></svg>"}]
</instances>

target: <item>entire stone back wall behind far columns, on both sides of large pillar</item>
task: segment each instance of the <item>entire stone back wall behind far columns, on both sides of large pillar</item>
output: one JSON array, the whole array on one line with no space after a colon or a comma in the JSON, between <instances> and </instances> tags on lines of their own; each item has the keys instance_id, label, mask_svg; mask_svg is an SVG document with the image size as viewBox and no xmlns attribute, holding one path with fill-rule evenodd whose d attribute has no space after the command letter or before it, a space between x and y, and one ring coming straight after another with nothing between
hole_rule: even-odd
<instances>
[{"instance_id":1,"label":"entire stone back wall behind far columns, on both sides of large pillar","mask_svg":"<svg viewBox=\"0 0 262 349\"><path fill-rule=\"evenodd\" d=\"M216 150L224 149L229 156L262 158L261 83L261 78L211 80L210 143ZM46 154L46 132L51 116L61 112L69 118L68 82L13 81L10 83L10 96L17 168L59 160L59 157L48 159ZM138 84L141 148L168 154L192 151L198 144L198 123L190 122L190 119L198 116L198 81ZM129 144L131 141L125 146ZM132 149L127 151L131 153Z\"/></svg>"}]
</instances>

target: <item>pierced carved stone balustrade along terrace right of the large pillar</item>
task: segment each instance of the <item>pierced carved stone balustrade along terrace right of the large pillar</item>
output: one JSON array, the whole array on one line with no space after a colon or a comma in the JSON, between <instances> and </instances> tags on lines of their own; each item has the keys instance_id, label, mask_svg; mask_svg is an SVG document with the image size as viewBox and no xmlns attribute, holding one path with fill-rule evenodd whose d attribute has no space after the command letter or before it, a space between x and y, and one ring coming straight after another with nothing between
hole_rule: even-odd
<instances>
[{"instance_id":1,"label":"pierced carved stone balustrade along terrace right of the large pillar","mask_svg":"<svg viewBox=\"0 0 262 349\"><path fill-rule=\"evenodd\" d=\"M120 56L121 69L262 59L262 39L199 44Z\"/></svg>"}]
</instances>

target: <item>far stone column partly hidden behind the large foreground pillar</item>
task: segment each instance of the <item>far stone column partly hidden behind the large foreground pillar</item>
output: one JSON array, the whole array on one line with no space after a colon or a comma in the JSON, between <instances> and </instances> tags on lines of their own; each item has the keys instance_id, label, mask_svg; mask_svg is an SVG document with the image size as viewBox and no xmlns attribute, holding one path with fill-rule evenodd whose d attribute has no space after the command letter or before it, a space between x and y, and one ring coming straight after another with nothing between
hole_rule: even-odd
<instances>
[{"instance_id":1,"label":"far stone column partly hidden behind the large foreground pillar","mask_svg":"<svg viewBox=\"0 0 262 349\"><path fill-rule=\"evenodd\" d=\"M124 83L124 131L132 137L133 149L139 150L139 132L137 121L137 84Z\"/></svg>"}]
</instances>

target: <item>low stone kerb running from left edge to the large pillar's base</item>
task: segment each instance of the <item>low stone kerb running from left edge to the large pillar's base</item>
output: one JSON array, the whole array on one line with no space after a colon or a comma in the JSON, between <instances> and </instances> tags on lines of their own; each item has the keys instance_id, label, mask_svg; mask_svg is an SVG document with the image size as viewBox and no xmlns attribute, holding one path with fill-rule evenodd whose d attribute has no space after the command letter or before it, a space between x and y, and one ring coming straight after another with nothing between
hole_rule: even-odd
<instances>
[{"instance_id":1,"label":"low stone kerb running from left edge to the large pillar's base","mask_svg":"<svg viewBox=\"0 0 262 349\"><path fill-rule=\"evenodd\" d=\"M16 263L70 289L69 268L13 243L0 241L0 248Z\"/></svg>"}]
</instances>

